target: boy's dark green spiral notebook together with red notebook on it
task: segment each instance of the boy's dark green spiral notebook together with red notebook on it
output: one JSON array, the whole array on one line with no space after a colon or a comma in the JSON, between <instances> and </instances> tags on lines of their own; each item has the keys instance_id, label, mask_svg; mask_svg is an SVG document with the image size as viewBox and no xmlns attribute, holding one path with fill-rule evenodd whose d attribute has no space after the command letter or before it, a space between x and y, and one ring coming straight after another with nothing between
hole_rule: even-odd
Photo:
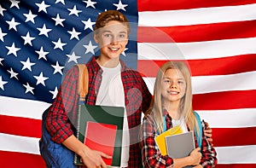
<instances>
[{"instance_id":1,"label":"boy's dark green spiral notebook together with red notebook on it","mask_svg":"<svg viewBox=\"0 0 256 168\"><path fill-rule=\"evenodd\" d=\"M91 149L106 150L112 156L112 159L102 158L107 165L120 166L124 112L124 107L79 105L77 138ZM74 156L74 164L83 165L78 154Z\"/></svg>"}]
</instances>

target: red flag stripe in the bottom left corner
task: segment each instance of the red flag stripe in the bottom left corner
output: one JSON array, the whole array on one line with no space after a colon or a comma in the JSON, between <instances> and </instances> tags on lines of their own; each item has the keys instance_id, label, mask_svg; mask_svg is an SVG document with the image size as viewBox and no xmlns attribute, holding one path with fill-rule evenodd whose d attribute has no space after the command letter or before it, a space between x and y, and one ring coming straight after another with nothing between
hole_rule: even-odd
<instances>
[{"instance_id":1,"label":"red flag stripe in the bottom left corner","mask_svg":"<svg viewBox=\"0 0 256 168\"><path fill-rule=\"evenodd\" d=\"M0 151L1 167L45 168L41 155Z\"/></svg>"}]
</instances>

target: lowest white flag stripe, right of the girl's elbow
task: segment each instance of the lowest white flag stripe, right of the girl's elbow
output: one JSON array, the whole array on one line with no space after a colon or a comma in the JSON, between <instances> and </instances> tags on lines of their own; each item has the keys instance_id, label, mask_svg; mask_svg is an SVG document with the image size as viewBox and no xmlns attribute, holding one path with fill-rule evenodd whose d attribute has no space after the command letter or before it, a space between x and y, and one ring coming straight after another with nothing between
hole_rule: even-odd
<instances>
[{"instance_id":1,"label":"lowest white flag stripe, right of the girl's elbow","mask_svg":"<svg viewBox=\"0 0 256 168\"><path fill-rule=\"evenodd\" d=\"M256 164L256 145L215 147L218 164Z\"/></svg>"}]
</instances>

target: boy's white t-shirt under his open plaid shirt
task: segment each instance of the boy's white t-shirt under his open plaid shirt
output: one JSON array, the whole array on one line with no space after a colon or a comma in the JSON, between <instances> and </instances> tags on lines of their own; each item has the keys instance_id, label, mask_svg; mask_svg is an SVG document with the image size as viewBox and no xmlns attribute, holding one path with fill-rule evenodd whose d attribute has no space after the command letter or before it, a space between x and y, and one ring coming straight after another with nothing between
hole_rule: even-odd
<instances>
[{"instance_id":1,"label":"boy's white t-shirt under his open plaid shirt","mask_svg":"<svg viewBox=\"0 0 256 168\"><path fill-rule=\"evenodd\" d=\"M125 92L121 79L121 65L113 68L102 67L102 83L96 97L96 105L125 107ZM128 166L129 159L129 127L125 110L121 167Z\"/></svg>"}]
</instances>

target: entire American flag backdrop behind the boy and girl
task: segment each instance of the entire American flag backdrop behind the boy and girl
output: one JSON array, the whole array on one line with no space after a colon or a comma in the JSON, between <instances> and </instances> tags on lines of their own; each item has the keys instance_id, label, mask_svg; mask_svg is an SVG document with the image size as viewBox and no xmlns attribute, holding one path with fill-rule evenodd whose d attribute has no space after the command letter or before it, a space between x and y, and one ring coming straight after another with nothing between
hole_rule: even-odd
<instances>
[{"instance_id":1,"label":"entire American flag backdrop behind the boy and girl","mask_svg":"<svg viewBox=\"0 0 256 168\"><path fill-rule=\"evenodd\" d=\"M42 113L65 71L99 53L91 32L110 9L137 25L121 59L151 93L161 64L189 62L217 167L256 167L256 0L1 0L0 166L45 167Z\"/></svg>"}]
</instances>

